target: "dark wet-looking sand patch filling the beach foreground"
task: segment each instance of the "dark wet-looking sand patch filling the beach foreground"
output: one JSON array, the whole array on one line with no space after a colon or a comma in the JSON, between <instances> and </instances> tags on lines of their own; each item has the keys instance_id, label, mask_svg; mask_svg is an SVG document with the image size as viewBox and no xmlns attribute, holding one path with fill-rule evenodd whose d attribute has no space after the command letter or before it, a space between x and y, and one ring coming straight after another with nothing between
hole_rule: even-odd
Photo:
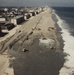
<instances>
[{"instance_id":1,"label":"dark wet-looking sand patch filling the beach foreground","mask_svg":"<svg viewBox=\"0 0 74 75\"><path fill-rule=\"evenodd\" d=\"M34 39L33 44L25 44L29 52L10 50L14 75L58 75L64 63L64 55L56 50L49 50L39 46L39 40Z\"/></svg>"}]
</instances>

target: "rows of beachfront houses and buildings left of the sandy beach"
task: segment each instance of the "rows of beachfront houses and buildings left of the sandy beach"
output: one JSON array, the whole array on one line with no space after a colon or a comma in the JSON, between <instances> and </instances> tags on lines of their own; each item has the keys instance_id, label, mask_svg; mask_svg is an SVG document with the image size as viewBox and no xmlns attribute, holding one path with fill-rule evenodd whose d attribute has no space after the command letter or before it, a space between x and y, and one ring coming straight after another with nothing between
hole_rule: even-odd
<instances>
[{"instance_id":1,"label":"rows of beachfront houses and buildings left of the sandy beach","mask_svg":"<svg viewBox=\"0 0 74 75\"><path fill-rule=\"evenodd\" d=\"M5 9L4 9L5 10ZM35 16L42 12L42 8L29 8L26 10L24 8L19 9L12 9L10 12L5 10L0 13L0 33L2 33L2 30L11 30L15 26L21 24L22 22L26 21L32 16Z\"/></svg>"}]
</instances>

